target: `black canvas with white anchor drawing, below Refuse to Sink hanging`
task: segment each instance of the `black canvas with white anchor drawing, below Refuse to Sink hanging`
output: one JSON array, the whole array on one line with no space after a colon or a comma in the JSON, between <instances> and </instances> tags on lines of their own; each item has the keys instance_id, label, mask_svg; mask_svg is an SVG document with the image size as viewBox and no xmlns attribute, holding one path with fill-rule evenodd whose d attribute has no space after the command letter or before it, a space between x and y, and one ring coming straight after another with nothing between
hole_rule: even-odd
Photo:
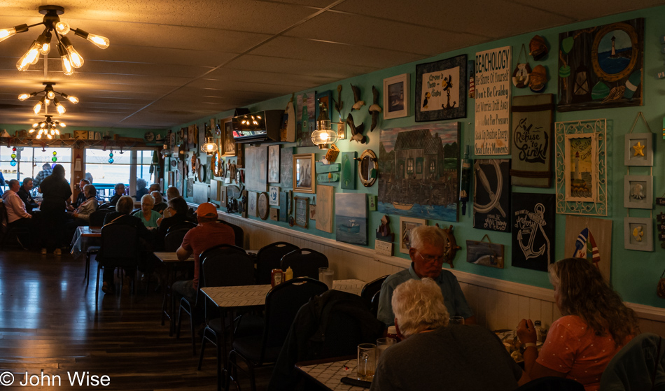
<instances>
[{"instance_id":1,"label":"black canvas with white anchor drawing, below Refuse to Sink hanging","mask_svg":"<svg viewBox=\"0 0 665 391\"><path fill-rule=\"evenodd\" d=\"M512 193L512 266L547 271L555 261L555 205L554 194Z\"/></svg>"}]
</instances>

